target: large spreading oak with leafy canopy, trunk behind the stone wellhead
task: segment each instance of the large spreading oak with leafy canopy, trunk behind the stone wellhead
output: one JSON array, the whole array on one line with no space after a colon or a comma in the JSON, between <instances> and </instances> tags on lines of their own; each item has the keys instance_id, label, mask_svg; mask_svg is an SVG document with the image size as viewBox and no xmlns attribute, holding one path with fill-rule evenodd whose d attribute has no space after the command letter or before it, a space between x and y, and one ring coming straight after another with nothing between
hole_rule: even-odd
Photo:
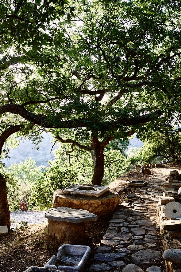
<instances>
[{"instance_id":1,"label":"large spreading oak with leafy canopy, trunk behind the stone wellhead","mask_svg":"<svg viewBox=\"0 0 181 272\"><path fill-rule=\"evenodd\" d=\"M26 13L9 5L5 32L0 25L0 139L17 125L21 133L51 129L91 152L92 183L101 185L111 140L180 111L181 3L69 1L63 11L56 2L28 4Z\"/></svg>"}]
</instances>

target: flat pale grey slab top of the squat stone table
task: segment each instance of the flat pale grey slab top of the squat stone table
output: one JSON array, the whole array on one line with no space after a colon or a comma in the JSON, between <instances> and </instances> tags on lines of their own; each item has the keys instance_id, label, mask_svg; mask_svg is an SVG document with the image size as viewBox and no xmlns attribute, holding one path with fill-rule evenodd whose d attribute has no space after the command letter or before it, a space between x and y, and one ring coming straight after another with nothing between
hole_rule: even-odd
<instances>
[{"instance_id":1,"label":"flat pale grey slab top of the squat stone table","mask_svg":"<svg viewBox=\"0 0 181 272\"><path fill-rule=\"evenodd\" d=\"M52 221L68 222L68 223L83 223L87 221L97 221L97 215L82 210L71 209L67 207L52 208L45 212L45 217Z\"/></svg>"}]
</instances>

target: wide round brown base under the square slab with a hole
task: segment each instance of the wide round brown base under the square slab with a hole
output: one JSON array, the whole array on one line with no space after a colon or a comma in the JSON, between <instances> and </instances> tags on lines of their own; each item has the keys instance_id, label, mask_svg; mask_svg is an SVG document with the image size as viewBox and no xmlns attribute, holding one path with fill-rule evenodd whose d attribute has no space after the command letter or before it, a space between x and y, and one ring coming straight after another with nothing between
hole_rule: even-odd
<instances>
[{"instance_id":1,"label":"wide round brown base under the square slab with a hole","mask_svg":"<svg viewBox=\"0 0 181 272\"><path fill-rule=\"evenodd\" d=\"M84 197L81 195L64 195L63 189L55 191L53 195L53 207L68 207L83 209L98 216L98 219L109 219L119 202L119 195L115 192L107 192L97 197Z\"/></svg>"}]
</instances>

